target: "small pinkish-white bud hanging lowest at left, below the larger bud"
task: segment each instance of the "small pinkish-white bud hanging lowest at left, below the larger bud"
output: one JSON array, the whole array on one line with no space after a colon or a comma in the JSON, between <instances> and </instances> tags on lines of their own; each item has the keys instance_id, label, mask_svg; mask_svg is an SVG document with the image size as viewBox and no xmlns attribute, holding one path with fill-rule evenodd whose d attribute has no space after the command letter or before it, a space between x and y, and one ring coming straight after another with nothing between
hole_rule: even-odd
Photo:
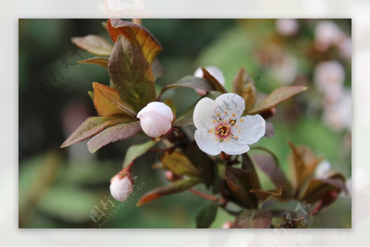
<instances>
[{"instance_id":1,"label":"small pinkish-white bud hanging lowest at left, below the larger bud","mask_svg":"<svg viewBox=\"0 0 370 247\"><path fill-rule=\"evenodd\" d=\"M125 175L122 178L117 174L111 179L110 191L114 199L123 202L132 192L132 186L131 177Z\"/></svg>"}]
</instances>

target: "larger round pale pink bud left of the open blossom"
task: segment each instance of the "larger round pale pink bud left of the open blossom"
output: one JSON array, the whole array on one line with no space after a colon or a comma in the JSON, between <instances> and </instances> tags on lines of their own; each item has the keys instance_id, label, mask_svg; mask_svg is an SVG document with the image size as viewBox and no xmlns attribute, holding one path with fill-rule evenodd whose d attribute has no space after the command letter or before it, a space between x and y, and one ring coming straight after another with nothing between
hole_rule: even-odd
<instances>
[{"instance_id":1,"label":"larger round pale pink bud left of the open blossom","mask_svg":"<svg viewBox=\"0 0 370 247\"><path fill-rule=\"evenodd\" d=\"M139 111L137 118L140 119L142 130L150 137L158 137L171 130L171 108L162 102L151 102Z\"/></svg>"}]
</instances>

